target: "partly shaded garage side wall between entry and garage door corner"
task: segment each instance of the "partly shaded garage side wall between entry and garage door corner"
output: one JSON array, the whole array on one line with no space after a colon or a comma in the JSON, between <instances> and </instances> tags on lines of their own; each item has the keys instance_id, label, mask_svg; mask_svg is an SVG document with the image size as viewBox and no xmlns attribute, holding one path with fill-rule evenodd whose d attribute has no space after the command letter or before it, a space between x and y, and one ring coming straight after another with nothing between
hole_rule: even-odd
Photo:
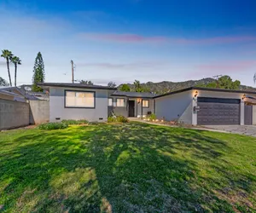
<instances>
[{"instance_id":1,"label":"partly shaded garage side wall between entry and garage door corner","mask_svg":"<svg viewBox=\"0 0 256 213\"><path fill-rule=\"evenodd\" d=\"M156 98L156 117L167 121L178 119L185 124L192 124L192 92L190 90Z\"/></svg>"}]
</instances>

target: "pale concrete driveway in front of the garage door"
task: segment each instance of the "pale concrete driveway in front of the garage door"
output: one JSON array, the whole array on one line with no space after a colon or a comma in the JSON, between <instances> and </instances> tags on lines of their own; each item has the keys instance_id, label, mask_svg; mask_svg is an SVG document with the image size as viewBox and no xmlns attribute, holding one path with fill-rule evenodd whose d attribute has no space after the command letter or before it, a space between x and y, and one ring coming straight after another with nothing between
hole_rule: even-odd
<instances>
[{"instance_id":1,"label":"pale concrete driveway in front of the garage door","mask_svg":"<svg viewBox=\"0 0 256 213\"><path fill-rule=\"evenodd\" d=\"M222 130L240 135L250 135L256 137L256 126L240 125L206 125L207 129Z\"/></svg>"}]
</instances>

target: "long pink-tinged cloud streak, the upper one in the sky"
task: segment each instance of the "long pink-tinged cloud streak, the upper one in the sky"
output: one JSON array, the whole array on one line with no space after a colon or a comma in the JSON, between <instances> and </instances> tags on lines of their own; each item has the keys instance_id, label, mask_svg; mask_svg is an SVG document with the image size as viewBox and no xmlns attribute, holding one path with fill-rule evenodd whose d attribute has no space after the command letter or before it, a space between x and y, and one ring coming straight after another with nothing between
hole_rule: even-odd
<instances>
[{"instance_id":1,"label":"long pink-tinged cloud streak, the upper one in the sky","mask_svg":"<svg viewBox=\"0 0 256 213\"><path fill-rule=\"evenodd\" d=\"M240 37L208 37L208 38L183 38L183 37L145 37L137 34L116 34L116 33L79 33L78 37L112 43L172 43L183 45L211 45L222 43L247 43L256 41L254 36Z\"/></svg>"}]
</instances>

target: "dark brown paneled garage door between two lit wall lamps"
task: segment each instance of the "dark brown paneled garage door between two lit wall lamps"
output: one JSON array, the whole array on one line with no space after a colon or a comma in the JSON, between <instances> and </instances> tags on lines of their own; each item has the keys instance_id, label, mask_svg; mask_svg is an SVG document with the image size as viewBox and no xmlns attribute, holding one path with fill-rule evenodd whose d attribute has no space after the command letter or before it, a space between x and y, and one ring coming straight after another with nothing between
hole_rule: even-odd
<instances>
[{"instance_id":1,"label":"dark brown paneled garage door between two lit wall lamps","mask_svg":"<svg viewBox=\"0 0 256 213\"><path fill-rule=\"evenodd\" d=\"M240 100L199 97L197 105L199 125L240 124Z\"/></svg>"}]
</instances>

